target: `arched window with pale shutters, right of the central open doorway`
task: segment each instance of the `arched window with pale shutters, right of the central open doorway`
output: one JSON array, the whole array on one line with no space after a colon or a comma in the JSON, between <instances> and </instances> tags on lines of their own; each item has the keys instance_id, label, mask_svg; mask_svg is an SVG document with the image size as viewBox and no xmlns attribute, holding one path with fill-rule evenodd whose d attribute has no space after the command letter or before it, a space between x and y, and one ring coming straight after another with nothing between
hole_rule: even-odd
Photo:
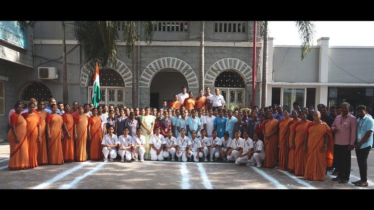
<instances>
[{"instance_id":1,"label":"arched window with pale shutters, right of the central open doorway","mask_svg":"<svg viewBox=\"0 0 374 210\"><path fill-rule=\"evenodd\" d=\"M244 105L245 84L243 78L234 71L221 72L214 81L214 87L219 88L220 94L229 105Z\"/></svg>"}]
</instances>

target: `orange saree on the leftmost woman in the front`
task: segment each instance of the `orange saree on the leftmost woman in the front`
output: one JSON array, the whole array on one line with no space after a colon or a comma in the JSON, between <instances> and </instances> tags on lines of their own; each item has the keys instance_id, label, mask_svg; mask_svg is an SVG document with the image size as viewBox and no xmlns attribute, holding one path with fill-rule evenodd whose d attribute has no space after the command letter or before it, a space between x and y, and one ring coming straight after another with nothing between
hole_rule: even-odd
<instances>
[{"instance_id":1,"label":"orange saree on the leftmost woman in the front","mask_svg":"<svg viewBox=\"0 0 374 210\"><path fill-rule=\"evenodd\" d=\"M13 113L10 115L10 125L14 125L15 132L19 138L19 143L15 143L15 136L10 129L8 132L8 141L10 147L8 168L10 170L27 169L30 167L30 164L28 162L26 120L20 114Z\"/></svg>"}]
</instances>

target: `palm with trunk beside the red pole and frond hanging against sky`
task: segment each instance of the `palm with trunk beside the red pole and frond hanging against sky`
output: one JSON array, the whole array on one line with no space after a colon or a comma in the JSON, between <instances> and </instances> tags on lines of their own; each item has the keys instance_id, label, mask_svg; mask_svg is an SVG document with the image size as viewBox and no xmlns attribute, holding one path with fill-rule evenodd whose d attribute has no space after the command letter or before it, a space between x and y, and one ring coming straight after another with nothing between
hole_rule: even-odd
<instances>
[{"instance_id":1,"label":"palm with trunk beside the red pole and frond hanging against sky","mask_svg":"<svg viewBox=\"0 0 374 210\"><path fill-rule=\"evenodd\" d=\"M301 44L301 60L311 51L311 44L313 43L315 24L314 21L295 21L296 27L299 31ZM262 96L261 96L261 106L265 107L267 102L267 57L268 57L268 22L263 21L261 25L261 35L264 37L264 49L263 49L263 63L262 63Z\"/></svg>"}]
</instances>

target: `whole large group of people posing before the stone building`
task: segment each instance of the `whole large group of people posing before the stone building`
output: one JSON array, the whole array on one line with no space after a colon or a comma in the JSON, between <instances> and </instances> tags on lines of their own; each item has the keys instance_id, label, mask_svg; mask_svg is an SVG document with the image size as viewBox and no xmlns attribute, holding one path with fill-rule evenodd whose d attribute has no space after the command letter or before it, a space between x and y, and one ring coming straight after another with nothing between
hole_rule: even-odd
<instances>
[{"instance_id":1,"label":"whole large group of people posing before the stone building","mask_svg":"<svg viewBox=\"0 0 374 210\"><path fill-rule=\"evenodd\" d=\"M186 87L168 106L127 108L110 105L56 104L31 98L23 109L18 101L9 112L9 169L60 165L64 162L103 160L234 161L257 167L287 170L307 180L325 179L335 167L333 180L347 183L351 150L356 148L361 180L368 186L367 158L373 144L373 118L364 105L357 119L350 105L313 105L291 112L282 105L225 109L219 90L199 91L193 99ZM182 103L183 101L183 103ZM334 109L334 110L333 110ZM334 114L335 113L335 114ZM312 116L312 119L310 118Z\"/></svg>"}]
</instances>

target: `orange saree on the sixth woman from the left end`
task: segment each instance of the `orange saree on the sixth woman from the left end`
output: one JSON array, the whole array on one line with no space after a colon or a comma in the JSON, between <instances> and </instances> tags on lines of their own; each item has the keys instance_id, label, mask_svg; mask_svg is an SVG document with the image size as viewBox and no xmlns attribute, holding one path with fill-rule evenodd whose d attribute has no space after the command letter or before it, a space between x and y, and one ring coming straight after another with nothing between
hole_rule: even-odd
<instances>
[{"instance_id":1,"label":"orange saree on the sixth woman from the left end","mask_svg":"<svg viewBox=\"0 0 374 210\"><path fill-rule=\"evenodd\" d=\"M80 117L78 114L74 115L74 124L77 127L77 135L78 138L75 141L75 161L77 162L84 162L87 161L87 125L88 125L88 117L83 115Z\"/></svg>"}]
</instances>

